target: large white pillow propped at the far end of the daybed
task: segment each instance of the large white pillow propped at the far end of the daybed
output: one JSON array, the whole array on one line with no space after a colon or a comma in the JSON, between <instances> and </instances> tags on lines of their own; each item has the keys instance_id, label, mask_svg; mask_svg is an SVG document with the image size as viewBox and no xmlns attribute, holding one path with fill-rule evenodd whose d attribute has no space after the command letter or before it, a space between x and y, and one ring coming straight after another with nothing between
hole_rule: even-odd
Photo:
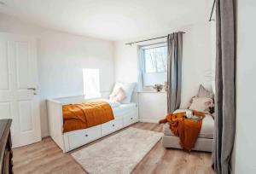
<instances>
[{"instance_id":1,"label":"large white pillow propped at the far end of the daybed","mask_svg":"<svg viewBox=\"0 0 256 174\"><path fill-rule=\"evenodd\" d=\"M122 90L125 91L125 100L123 100L121 103L130 103L131 102L131 95L136 86L136 83L121 83L116 82L113 87L112 94L116 94L119 88L122 88Z\"/></svg>"}]
</instances>

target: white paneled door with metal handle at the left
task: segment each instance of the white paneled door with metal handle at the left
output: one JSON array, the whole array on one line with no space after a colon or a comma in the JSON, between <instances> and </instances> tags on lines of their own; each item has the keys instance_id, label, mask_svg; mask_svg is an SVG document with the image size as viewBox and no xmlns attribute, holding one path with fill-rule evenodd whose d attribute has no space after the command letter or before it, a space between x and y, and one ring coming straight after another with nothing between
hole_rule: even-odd
<instances>
[{"instance_id":1,"label":"white paneled door with metal handle at the left","mask_svg":"<svg viewBox=\"0 0 256 174\"><path fill-rule=\"evenodd\" d=\"M34 38L0 32L0 119L13 119L13 147L41 141Z\"/></svg>"}]
</instances>

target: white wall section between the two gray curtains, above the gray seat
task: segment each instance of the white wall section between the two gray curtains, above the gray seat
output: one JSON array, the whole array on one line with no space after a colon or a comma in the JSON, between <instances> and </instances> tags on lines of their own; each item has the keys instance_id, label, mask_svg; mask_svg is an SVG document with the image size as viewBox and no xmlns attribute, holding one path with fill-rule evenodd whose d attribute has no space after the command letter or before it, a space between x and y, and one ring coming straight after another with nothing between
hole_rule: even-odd
<instances>
[{"instance_id":1,"label":"white wall section between the two gray curtains, above the gray seat","mask_svg":"<svg viewBox=\"0 0 256 174\"><path fill-rule=\"evenodd\" d=\"M199 85L212 90L212 27L204 24L185 28L183 38L182 103L187 107Z\"/></svg>"}]
</instances>

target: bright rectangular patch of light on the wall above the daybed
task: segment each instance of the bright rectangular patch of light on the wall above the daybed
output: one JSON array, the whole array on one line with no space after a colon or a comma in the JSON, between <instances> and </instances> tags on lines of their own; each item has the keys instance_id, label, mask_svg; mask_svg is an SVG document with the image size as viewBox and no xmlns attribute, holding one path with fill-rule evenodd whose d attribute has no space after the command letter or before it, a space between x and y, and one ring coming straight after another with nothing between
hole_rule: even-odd
<instances>
[{"instance_id":1,"label":"bright rectangular patch of light on the wall above the daybed","mask_svg":"<svg viewBox=\"0 0 256 174\"><path fill-rule=\"evenodd\" d=\"M100 70L83 69L84 96L86 99L101 97L100 92Z\"/></svg>"}]
</instances>

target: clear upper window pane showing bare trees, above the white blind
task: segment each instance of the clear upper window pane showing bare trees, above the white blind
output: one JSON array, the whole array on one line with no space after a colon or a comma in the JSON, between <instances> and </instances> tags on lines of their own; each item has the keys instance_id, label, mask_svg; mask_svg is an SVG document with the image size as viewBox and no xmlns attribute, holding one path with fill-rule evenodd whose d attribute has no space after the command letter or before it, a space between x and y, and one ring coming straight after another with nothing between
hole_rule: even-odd
<instances>
[{"instance_id":1,"label":"clear upper window pane showing bare trees, above the white blind","mask_svg":"<svg viewBox=\"0 0 256 174\"><path fill-rule=\"evenodd\" d=\"M146 73L166 72L167 47L156 47L144 49L145 71Z\"/></svg>"}]
</instances>

